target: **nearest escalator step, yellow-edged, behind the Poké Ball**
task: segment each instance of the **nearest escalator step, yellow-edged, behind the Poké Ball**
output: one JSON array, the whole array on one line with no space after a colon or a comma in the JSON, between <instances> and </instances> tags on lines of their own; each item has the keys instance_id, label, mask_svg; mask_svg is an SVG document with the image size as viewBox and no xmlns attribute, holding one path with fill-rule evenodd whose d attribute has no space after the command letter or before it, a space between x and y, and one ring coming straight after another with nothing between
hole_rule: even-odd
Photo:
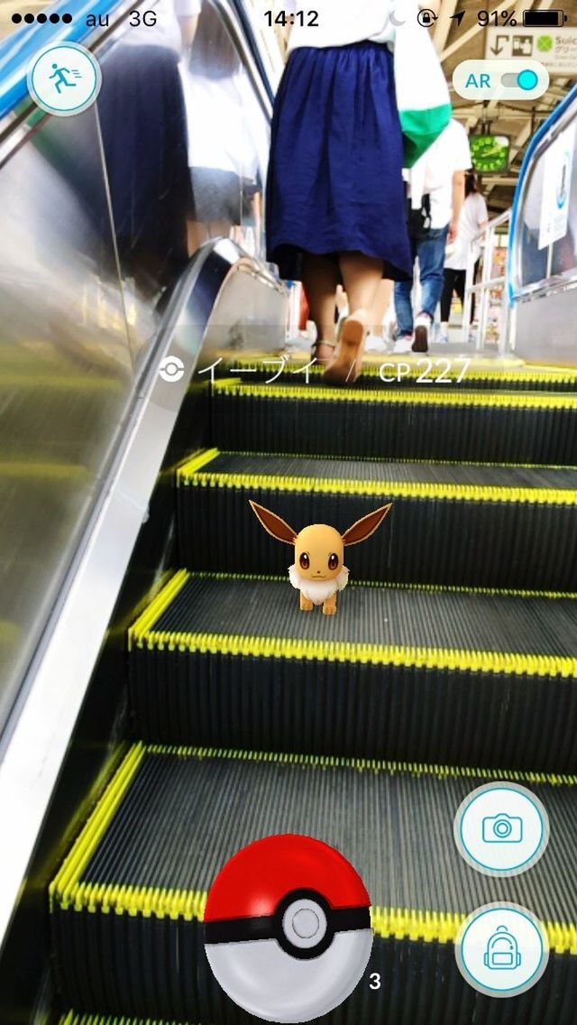
<instances>
[{"instance_id":1,"label":"nearest escalator step, yellow-edged, behind the Pok\u00e9 Ball","mask_svg":"<svg viewBox=\"0 0 577 1025\"><path fill-rule=\"evenodd\" d=\"M445 767L134 745L50 885L67 1004L203 1025L255 1021L208 968L206 894L241 847L296 832L340 850L373 902L366 978L323 1021L574 1025L577 880L568 865L577 846L577 778L513 774L543 802L551 831L546 855L509 879L475 872L453 843L461 801L493 778ZM499 900L542 919L551 955L537 989L494 1001L461 978L453 943L468 913ZM369 989L372 972L383 980L378 991Z\"/></svg>"}]
</instances>

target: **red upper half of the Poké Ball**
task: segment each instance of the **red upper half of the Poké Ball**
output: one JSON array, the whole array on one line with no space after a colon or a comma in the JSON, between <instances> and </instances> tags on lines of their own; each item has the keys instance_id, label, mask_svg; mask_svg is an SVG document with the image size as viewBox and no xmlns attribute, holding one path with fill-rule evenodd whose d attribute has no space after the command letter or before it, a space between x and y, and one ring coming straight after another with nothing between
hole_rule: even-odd
<instances>
[{"instance_id":1,"label":"red upper half of the Pok\u00e9 Ball","mask_svg":"<svg viewBox=\"0 0 577 1025\"><path fill-rule=\"evenodd\" d=\"M314 890L333 908L369 907L363 880L338 851L311 836L267 836L239 851L216 876L205 921L275 913L293 890Z\"/></svg>"}]
</instances>

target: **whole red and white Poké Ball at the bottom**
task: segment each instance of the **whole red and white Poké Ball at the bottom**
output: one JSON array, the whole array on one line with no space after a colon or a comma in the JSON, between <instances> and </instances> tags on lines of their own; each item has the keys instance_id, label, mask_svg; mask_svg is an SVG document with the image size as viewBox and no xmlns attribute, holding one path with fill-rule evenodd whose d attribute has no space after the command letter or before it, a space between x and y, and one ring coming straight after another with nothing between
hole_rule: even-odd
<instances>
[{"instance_id":1,"label":"whole red and white Pok\u00e9 Ball at the bottom","mask_svg":"<svg viewBox=\"0 0 577 1025\"><path fill-rule=\"evenodd\" d=\"M267 836L224 865L208 895L209 965L239 1007L307 1022L353 992L373 945L370 898L353 866L310 836Z\"/></svg>"}]
</instances>

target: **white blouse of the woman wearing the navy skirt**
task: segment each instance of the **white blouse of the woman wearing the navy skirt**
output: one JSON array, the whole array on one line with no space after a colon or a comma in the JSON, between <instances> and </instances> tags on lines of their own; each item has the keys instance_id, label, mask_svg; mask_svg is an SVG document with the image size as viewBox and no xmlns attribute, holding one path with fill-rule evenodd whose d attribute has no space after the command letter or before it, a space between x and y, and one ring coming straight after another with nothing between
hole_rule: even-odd
<instances>
[{"instance_id":1,"label":"white blouse of the woman wearing the navy skirt","mask_svg":"<svg viewBox=\"0 0 577 1025\"><path fill-rule=\"evenodd\" d=\"M285 11L289 17L295 15L289 39L289 50L294 50L299 46L347 46L365 40L391 43L395 39L395 26L390 20L393 4L397 10L403 7L403 2L275 0L275 11Z\"/></svg>"}]
</instances>

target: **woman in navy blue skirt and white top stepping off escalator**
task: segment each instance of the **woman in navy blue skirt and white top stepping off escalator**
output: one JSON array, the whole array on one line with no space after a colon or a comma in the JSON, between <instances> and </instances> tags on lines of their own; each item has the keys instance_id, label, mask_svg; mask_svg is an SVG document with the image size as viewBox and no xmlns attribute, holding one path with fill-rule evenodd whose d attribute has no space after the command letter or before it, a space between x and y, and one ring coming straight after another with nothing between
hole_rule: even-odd
<instances>
[{"instance_id":1,"label":"woman in navy blue skirt and white top stepping off escalator","mask_svg":"<svg viewBox=\"0 0 577 1025\"><path fill-rule=\"evenodd\" d=\"M402 17L403 0L277 7L294 26L273 118L267 256L282 278L303 282L315 355L328 364L325 378L341 384L361 372L379 283L406 280L412 266L390 50L390 15ZM351 314L336 348L339 282Z\"/></svg>"}]
</instances>

